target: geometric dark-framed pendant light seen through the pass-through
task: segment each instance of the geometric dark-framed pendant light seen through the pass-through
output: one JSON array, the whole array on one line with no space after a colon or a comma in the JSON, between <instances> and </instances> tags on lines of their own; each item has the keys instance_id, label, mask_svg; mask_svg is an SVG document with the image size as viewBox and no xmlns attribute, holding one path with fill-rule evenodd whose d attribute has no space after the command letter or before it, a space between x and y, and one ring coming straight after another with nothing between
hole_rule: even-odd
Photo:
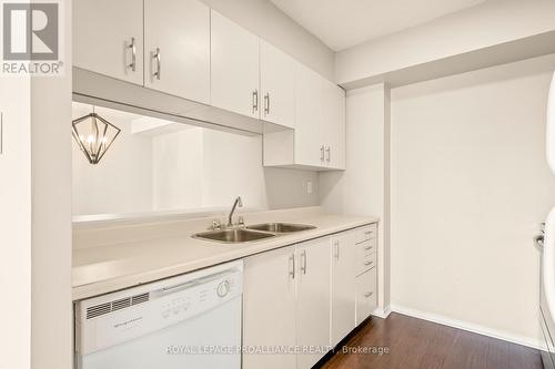
<instances>
[{"instance_id":1,"label":"geometric dark-framed pendant light seen through the pass-through","mask_svg":"<svg viewBox=\"0 0 555 369\"><path fill-rule=\"evenodd\" d=\"M94 112L72 122L73 139L91 164L98 164L121 130Z\"/></svg>"}]
</instances>

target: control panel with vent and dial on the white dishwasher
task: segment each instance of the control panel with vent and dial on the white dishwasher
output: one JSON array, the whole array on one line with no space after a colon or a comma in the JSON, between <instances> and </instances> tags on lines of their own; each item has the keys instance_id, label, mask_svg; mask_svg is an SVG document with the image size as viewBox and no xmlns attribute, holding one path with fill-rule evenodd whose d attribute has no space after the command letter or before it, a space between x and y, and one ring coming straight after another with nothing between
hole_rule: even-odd
<instances>
[{"instance_id":1,"label":"control panel with vent and dial on the white dishwasher","mask_svg":"<svg viewBox=\"0 0 555 369\"><path fill-rule=\"evenodd\" d=\"M191 277L194 277L194 273ZM142 286L141 291L144 291L145 287ZM242 264L236 268L215 269L213 274L204 271L198 278L186 278L186 275L170 278L165 283L162 280L152 284L152 287L154 288L148 291L148 299L144 303L124 306L118 310L112 309L92 318L83 311L89 311L90 305L95 301L83 304L80 307L81 315L75 319L78 352L88 355L105 349L180 324L232 299L241 298ZM119 299L123 300L125 297L137 296L137 291L129 290L128 295L122 293L114 295L123 296ZM110 298L110 295L105 298ZM102 305L102 301L100 303ZM101 305L94 305L93 308Z\"/></svg>"}]
</instances>

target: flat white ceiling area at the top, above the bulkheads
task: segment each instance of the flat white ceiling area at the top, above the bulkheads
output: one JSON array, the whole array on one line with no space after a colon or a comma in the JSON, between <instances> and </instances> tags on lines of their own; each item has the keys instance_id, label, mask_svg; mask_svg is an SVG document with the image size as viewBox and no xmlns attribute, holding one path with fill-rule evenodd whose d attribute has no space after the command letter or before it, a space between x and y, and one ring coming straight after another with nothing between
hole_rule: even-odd
<instances>
[{"instance_id":1,"label":"flat white ceiling area at the top, above the bulkheads","mask_svg":"<svg viewBox=\"0 0 555 369\"><path fill-rule=\"evenodd\" d=\"M486 0L270 0L334 51Z\"/></svg>"}]
</instances>

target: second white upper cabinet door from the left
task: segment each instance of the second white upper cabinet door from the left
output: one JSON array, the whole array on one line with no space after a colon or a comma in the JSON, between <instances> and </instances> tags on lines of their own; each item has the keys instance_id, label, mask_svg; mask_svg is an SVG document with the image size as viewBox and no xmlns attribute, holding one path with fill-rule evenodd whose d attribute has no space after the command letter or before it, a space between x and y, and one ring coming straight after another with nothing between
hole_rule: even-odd
<instances>
[{"instance_id":1,"label":"second white upper cabinet door from the left","mask_svg":"<svg viewBox=\"0 0 555 369\"><path fill-rule=\"evenodd\" d=\"M210 103L210 9L198 0L144 1L144 85Z\"/></svg>"}]
</instances>

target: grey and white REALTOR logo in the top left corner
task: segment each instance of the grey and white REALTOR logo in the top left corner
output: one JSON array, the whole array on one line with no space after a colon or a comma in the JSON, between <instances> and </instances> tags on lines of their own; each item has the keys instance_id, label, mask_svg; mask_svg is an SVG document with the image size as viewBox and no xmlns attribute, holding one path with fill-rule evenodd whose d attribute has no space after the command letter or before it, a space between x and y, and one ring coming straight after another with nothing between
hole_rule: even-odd
<instances>
[{"instance_id":1,"label":"grey and white REALTOR logo in the top left corner","mask_svg":"<svg viewBox=\"0 0 555 369\"><path fill-rule=\"evenodd\" d=\"M2 73L60 75L60 3L2 2Z\"/></svg>"}]
</instances>

